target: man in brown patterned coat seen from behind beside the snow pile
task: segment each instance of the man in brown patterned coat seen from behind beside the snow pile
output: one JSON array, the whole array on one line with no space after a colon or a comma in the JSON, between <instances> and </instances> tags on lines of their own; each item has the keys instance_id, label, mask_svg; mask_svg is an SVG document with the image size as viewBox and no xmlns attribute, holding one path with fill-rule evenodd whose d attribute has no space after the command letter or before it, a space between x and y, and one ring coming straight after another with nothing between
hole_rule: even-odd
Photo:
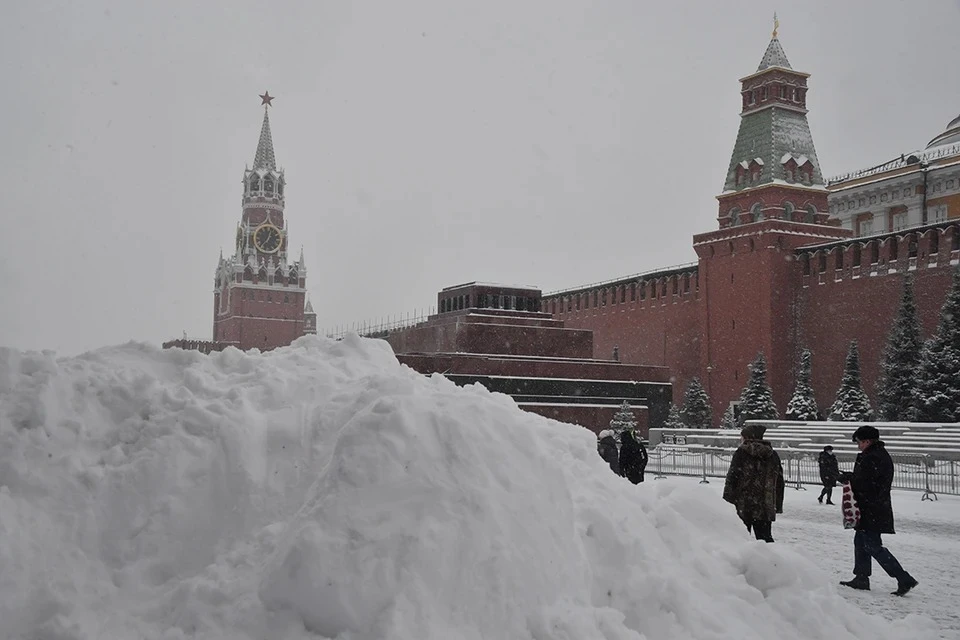
<instances>
[{"instance_id":1,"label":"man in brown patterned coat seen from behind beside the snow pile","mask_svg":"<svg viewBox=\"0 0 960 640\"><path fill-rule=\"evenodd\" d=\"M766 427L749 424L740 432L742 441L727 471L723 499L737 508L737 515L753 530L757 540L773 542L773 521L783 513L783 465L773 445L763 439Z\"/></svg>"}]
</instances>

